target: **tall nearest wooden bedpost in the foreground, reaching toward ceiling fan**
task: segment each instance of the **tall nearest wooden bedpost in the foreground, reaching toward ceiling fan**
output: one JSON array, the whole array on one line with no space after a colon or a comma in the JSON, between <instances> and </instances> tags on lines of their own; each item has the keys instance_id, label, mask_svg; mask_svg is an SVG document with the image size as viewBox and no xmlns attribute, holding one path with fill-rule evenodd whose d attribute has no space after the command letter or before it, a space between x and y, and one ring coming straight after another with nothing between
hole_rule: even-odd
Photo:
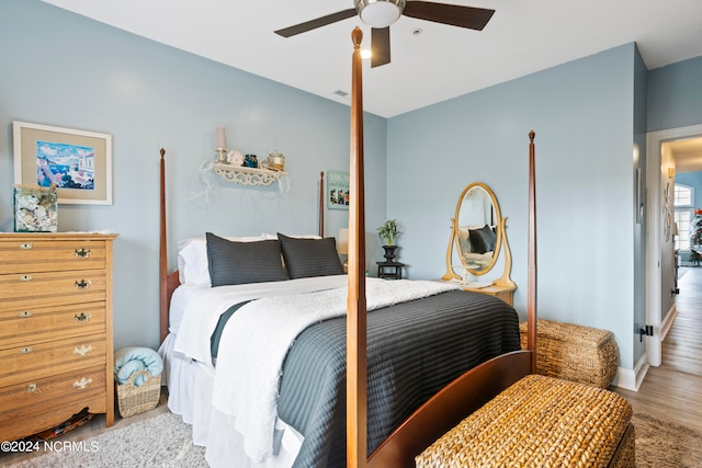
<instances>
[{"instance_id":1,"label":"tall nearest wooden bedpost in the foreground, reaching toward ceiling fan","mask_svg":"<svg viewBox=\"0 0 702 468\"><path fill-rule=\"evenodd\" d=\"M351 33L351 205L349 207L349 296L347 300L347 467L365 467L366 416L366 303L365 205L363 187L363 79L358 26Z\"/></svg>"}]
</instances>

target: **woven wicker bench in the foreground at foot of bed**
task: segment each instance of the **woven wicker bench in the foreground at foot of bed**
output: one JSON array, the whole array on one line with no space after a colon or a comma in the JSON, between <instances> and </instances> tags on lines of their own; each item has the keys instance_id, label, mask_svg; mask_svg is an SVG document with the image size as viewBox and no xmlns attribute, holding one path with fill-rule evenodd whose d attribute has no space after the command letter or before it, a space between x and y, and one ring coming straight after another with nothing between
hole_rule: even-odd
<instances>
[{"instance_id":1,"label":"woven wicker bench in the foreground at foot of bed","mask_svg":"<svg viewBox=\"0 0 702 468\"><path fill-rule=\"evenodd\" d=\"M429 467L634 467L632 407L590 385L529 375L416 457Z\"/></svg>"}]
</instances>

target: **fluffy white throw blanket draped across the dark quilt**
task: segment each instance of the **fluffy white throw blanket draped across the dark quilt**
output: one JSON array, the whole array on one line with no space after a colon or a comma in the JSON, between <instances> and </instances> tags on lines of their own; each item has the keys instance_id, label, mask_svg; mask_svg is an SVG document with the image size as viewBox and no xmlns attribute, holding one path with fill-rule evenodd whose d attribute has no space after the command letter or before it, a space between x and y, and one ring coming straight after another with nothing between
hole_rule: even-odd
<instances>
[{"instance_id":1,"label":"fluffy white throw blanket draped across the dark quilt","mask_svg":"<svg viewBox=\"0 0 702 468\"><path fill-rule=\"evenodd\" d=\"M457 287L366 278L366 308L380 309ZM263 461L273 452L278 388L287 350L310 324L346 315L347 296L348 288L341 287L267 297L242 306L227 322L217 353L213 404L235 418L236 429L245 435L246 452L254 460Z\"/></svg>"}]
</instances>

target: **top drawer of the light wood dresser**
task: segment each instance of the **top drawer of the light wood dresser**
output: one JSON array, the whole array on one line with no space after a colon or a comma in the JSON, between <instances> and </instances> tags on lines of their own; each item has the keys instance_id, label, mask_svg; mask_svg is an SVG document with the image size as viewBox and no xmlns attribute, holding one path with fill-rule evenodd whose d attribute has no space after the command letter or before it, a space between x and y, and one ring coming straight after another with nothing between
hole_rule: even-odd
<instances>
[{"instance_id":1,"label":"top drawer of the light wood dresser","mask_svg":"<svg viewBox=\"0 0 702 468\"><path fill-rule=\"evenodd\" d=\"M36 240L21 238L0 242L0 274L37 273L105 267L103 240Z\"/></svg>"}]
</instances>

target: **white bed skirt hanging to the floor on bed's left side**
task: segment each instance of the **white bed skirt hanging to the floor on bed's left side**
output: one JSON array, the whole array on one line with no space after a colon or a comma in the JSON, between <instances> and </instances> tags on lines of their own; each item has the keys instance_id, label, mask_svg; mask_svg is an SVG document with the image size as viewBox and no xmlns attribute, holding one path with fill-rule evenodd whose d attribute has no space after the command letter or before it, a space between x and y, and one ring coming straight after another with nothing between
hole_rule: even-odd
<instances>
[{"instance_id":1,"label":"white bed skirt hanging to the floor on bed's left side","mask_svg":"<svg viewBox=\"0 0 702 468\"><path fill-rule=\"evenodd\" d=\"M280 419L275 423L275 456L263 463L249 458L244 438L234 429L234 418L212 406L214 367L173 351L176 336L166 336L159 347L163 358L161 381L168 386L168 408L192 425L193 443L206 447L205 458L213 468L291 467L303 443L302 435Z\"/></svg>"}]
</instances>

